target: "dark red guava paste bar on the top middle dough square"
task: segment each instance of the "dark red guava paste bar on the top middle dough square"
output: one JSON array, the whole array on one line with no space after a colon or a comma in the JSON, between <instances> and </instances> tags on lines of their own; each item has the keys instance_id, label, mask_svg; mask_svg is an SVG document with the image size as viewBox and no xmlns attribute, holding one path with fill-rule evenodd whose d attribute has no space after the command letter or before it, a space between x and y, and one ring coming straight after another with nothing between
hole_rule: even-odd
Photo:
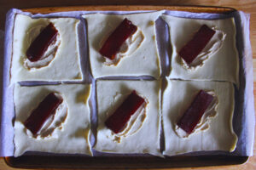
<instances>
[{"instance_id":1,"label":"dark red guava paste bar on the top middle dough square","mask_svg":"<svg viewBox=\"0 0 256 170\"><path fill-rule=\"evenodd\" d=\"M123 20L103 44L100 54L108 59L114 59L125 40L136 31L137 26L134 26L130 20Z\"/></svg>"}]
</instances>

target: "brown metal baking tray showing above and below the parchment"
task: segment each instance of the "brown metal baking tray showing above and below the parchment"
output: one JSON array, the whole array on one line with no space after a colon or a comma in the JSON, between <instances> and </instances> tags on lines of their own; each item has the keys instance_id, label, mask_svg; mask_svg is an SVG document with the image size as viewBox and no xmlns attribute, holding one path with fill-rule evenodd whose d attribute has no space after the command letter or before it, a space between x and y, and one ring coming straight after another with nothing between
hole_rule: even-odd
<instances>
[{"instance_id":1,"label":"brown metal baking tray showing above and below the parchment","mask_svg":"<svg viewBox=\"0 0 256 170\"><path fill-rule=\"evenodd\" d=\"M229 14L236 9L225 7L195 7L195 6L74 6L74 7L49 7L49 8L25 8L24 12L32 14L49 14L64 11L94 11L94 10L177 10L195 13ZM26 154L24 156L4 157L10 167L20 168L166 168L166 167L206 167L220 165L237 165L245 163L248 156L227 156L223 154L204 156L83 156L83 155L61 155L61 154Z\"/></svg>"}]
</instances>

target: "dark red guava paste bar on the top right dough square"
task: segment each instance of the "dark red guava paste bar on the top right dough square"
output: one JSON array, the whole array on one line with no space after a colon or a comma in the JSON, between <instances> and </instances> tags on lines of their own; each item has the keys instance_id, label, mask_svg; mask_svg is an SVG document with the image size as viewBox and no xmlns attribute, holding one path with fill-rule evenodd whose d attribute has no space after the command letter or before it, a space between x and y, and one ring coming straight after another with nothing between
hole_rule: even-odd
<instances>
[{"instance_id":1,"label":"dark red guava paste bar on the top right dough square","mask_svg":"<svg viewBox=\"0 0 256 170\"><path fill-rule=\"evenodd\" d=\"M200 30L195 33L195 36L179 51L179 56L182 57L189 65L201 53L203 48L211 40L216 31L209 28L207 25L201 26Z\"/></svg>"}]
</instances>

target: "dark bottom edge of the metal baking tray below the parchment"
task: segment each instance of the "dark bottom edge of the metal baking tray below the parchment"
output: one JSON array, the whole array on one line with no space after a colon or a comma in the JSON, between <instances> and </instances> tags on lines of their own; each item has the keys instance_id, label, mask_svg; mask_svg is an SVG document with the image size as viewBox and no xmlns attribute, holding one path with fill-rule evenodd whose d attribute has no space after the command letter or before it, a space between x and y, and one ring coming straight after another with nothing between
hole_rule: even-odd
<instances>
[{"instance_id":1,"label":"dark bottom edge of the metal baking tray below the parchment","mask_svg":"<svg viewBox=\"0 0 256 170\"><path fill-rule=\"evenodd\" d=\"M89 158L89 159L86 159ZM114 158L114 162L113 162ZM70 161L70 159L73 159ZM78 160L79 161L74 161ZM80 159L83 159L80 160ZM86 160L85 160L86 159ZM141 159L138 163L137 159ZM143 161L142 161L143 159ZM249 156L9 156L4 157L9 167L15 168L90 168L90 169L123 169L123 168L173 168L173 167L219 167L241 165ZM174 159L174 161L172 160ZM44 162L42 162L42 160ZM213 161L212 161L213 160ZM41 162L40 162L41 161ZM57 161L57 162L54 162ZM32 163L31 163L32 162ZM66 162L63 164L63 162ZM71 164L69 164L71 162ZM61 163L61 164L60 164ZM79 164L75 164L79 163Z\"/></svg>"}]
</instances>

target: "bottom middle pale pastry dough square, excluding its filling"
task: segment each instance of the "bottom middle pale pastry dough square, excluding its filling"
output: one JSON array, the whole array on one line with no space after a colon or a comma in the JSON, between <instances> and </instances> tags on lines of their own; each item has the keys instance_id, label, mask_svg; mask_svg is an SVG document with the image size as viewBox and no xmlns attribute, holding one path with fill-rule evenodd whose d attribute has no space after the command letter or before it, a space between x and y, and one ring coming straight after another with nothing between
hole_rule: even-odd
<instances>
[{"instance_id":1,"label":"bottom middle pale pastry dough square, excluding its filling","mask_svg":"<svg viewBox=\"0 0 256 170\"><path fill-rule=\"evenodd\" d=\"M119 142L105 126L115 109L136 90L148 100L146 118L136 133L130 133ZM149 153L160 156L160 81L97 81L98 127L95 150L110 153ZM134 131L133 131L134 132Z\"/></svg>"}]
</instances>

